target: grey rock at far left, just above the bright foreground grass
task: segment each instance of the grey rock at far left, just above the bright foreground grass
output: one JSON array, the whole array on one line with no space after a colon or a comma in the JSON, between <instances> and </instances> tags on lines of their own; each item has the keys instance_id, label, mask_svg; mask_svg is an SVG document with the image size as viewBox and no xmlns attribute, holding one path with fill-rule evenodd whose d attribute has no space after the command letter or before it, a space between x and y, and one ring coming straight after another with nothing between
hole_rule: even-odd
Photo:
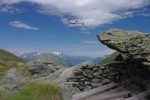
<instances>
[{"instance_id":1,"label":"grey rock at far left, just above the bright foreground grass","mask_svg":"<svg viewBox=\"0 0 150 100\"><path fill-rule=\"evenodd\" d=\"M26 84L29 78L18 73L15 68L10 69L2 80L3 87L6 90L17 90Z\"/></svg>"}]
</instances>

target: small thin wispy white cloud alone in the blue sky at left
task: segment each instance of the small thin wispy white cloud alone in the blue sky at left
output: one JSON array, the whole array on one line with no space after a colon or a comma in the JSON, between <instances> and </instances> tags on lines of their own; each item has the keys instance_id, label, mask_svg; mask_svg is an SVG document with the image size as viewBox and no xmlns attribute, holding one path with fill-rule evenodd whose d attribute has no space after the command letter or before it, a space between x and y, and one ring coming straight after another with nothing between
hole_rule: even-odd
<instances>
[{"instance_id":1,"label":"small thin wispy white cloud alone in the blue sky at left","mask_svg":"<svg viewBox=\"0 0 150 100\"><path fill-rule=\"evenodd\" d=\"M30 26L30 25L22 23L20 21L11 21L10 25L13 27L16 27L16 28L23 28L23 29L27 29L27 30L35 30L35 31L39 30L39 28L37 28L37 27Z\"/></svg>"}]
</instances>

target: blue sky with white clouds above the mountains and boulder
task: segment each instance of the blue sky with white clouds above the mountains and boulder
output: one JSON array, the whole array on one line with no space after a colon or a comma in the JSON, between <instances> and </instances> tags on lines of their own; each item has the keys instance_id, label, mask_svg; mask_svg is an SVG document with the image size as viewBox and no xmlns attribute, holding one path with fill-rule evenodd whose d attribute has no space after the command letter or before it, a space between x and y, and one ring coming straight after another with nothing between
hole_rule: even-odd
<instances>
[{"instance_id":1,"label":"blue sky with white clouds above the mountains and boulder","mask_svg":"<svg viewBox=\"0 0 150 100\"><path fill-rule=\"evenodd\" d=\"M109 29L150 33L150 0L0 0L0 48L11 52L101 57L114 52L96 37Z\"/></svg>"}]
</instances>

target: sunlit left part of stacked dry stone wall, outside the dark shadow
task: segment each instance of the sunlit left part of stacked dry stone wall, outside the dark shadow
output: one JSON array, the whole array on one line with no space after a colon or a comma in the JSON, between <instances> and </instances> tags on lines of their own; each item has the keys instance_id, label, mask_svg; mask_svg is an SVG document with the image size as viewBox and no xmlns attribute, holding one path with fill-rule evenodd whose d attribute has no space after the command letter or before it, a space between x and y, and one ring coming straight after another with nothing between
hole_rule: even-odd
<instances>
[{"instance_id":1,"label":"sunlit left part of stacked dry stone wall, outside the dark shadow","mask_svg":"<svg viewBox=\"0 0 150 100\"><path fill-rule=\"evenodd\" d=\"M117 71L103 65L83 65L74 70L74 76L67 81L80 91L85 91L107 84L116 78Z\"/></svg>"}]
</instances>

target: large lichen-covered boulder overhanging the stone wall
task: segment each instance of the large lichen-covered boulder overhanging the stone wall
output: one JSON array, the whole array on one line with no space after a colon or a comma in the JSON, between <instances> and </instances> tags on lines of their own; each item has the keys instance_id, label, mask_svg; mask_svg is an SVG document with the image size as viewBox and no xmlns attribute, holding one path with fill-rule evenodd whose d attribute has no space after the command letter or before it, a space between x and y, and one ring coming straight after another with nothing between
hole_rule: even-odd
<instances>
[{"instance_id":1,"label":"large lichen-covered boulder overhanging the stone wall","mask_svg":"<svg viewBox=\"0 0 150 100\"><path fill-rule=\"evenodd\" d=\"M129 58L150 65L150 34L136 31L108 30L98 39L109 48L126 54Z\"/></svg>"}]
</instances>

